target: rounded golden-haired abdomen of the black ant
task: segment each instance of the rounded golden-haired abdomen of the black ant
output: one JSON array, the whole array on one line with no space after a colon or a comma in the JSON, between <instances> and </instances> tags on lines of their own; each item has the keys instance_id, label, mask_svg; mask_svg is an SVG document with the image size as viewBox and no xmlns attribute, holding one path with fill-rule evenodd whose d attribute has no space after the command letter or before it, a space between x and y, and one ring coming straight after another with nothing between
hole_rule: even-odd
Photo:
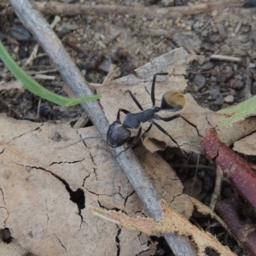
<instances>
[{"instance_id":1,"label":"rounded golden-haired abdomen of the black ant","mask_svg":"<svg viewBox=\"0 0 256 256\"><path fill-rule=\"evenodd\" d=\"M184 96L177 90L167 90L162 96L161 108L167 111L178 111L184 108L186 100Z\"/></svg>"}]
</instances>

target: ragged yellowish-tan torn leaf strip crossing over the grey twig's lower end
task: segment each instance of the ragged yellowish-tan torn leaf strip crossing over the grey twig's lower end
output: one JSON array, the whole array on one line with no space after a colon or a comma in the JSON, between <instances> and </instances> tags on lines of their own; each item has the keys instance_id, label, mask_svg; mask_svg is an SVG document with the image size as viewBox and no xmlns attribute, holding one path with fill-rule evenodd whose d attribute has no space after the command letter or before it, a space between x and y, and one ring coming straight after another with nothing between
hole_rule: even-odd
<instances>
[{"instance_id":1,"label":"ragged yellowish-tan torn leaf strip crossing over the grey twig's lower end","mask_svg":"<svg viewBox=\"0 0 256 256\"><path fill-rule=\"evenodd\" d=\"M235 256L235 253L230 251L229 247L224 247L210 233L199 230L195 225L190 224L185 218L182 218L177 212L168 207L166 201L161 200L163 209L163 217L159 222L153 218L130 218L123 212L107 211L102 208L90 207L91 212L101 218L120 224L128 230L140 230L148 235L155 233L166 234L177 232L179 236L188 237L197 249L198 255L206 255L207 247L214 249L222 256Z\"/></svg>"}]
</instances>

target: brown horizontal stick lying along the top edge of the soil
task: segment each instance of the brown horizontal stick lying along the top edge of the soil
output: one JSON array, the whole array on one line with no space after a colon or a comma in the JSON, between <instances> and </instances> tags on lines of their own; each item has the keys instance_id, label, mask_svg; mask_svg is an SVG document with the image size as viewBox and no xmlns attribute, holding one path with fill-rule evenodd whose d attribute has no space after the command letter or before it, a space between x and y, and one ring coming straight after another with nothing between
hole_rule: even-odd
<instances>
[{"instance_id":1,"label":"brown horizontal stick lying along the top edge of the soil","mask_svg":"<svg viewBox=\"0 0 256 256\"><path fill-rule=\"evenodd\" d=\"M177 6L169 8L149 8L149 7L130 7L120 5L85 5L85 4L67 4L59 2L36 3L37 8L44 15L136 15L151 16L159 18L177 18L183 15L198 15L213 9L224 9L231 4L239 4L240 0L225 0L213 3L199 3L192 6ZM7 14L12 9L7 9Z\"/></svg>"}]
</instances>

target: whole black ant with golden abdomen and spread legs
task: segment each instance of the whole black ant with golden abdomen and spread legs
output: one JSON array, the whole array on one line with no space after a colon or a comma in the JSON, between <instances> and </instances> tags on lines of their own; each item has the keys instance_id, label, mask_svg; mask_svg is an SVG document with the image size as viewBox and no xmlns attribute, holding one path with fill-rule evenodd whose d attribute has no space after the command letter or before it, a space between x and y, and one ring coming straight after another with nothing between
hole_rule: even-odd
<instances>
[{"instance_id":1,"label":"whole black ant with golden abdomen and spread legs","mask_svg":"<svg viewBox=\"0 0 256 256\"><path fill-rule=\"evenodd\" d=\"M177 144L177 141L163 127L161 127L159 124L154 122L154 119L162 120L164 122L170 122L173 119L182 118L189 125L195 127L197 134L199 134L199 131L197 130L196 125L189 122L189 120L185 119L180 113L177 113L172 117L165 117L165 118L160 117L160 115L157 114L158 112L160 112L160 110L168 110L168 111L176 112L182 109L185 105L185 99L182 94L180 94L177 90L168 90L162 96L160 107L155 106L155 97L154 97L155 80L157 76L166 76L166 75L168 75L168 73L154 74L152 86L151 86L152 108L148 108L144 110L141 104L137 101L136 96L134 96L134 94L131 92L131 90L127 90L132 100L136 103L137 107L141 111L138 113L131 113L130 111L124 108L119 108L116 120L113 122L112 125L108 127L107 143L110 147L118 148L124 145L131 138L131 131L129 129L138 129L136 137L134 137L132 143L128 145L125 148L125 150L127 150L128 148L132 148L134 145L137 144L139 139L143 137L141 124L145 122L149 122L150 125L148 126L148 129L144 131L143 135L146 134L151 129L152 125L155 125L160 131L166 134L166 136L170 137L173 143ZM125 113L125 119L123 124L120 121L120 112ZM178 144L177 144L177 147L180 148Z\"/></svg>"}]
</instances>

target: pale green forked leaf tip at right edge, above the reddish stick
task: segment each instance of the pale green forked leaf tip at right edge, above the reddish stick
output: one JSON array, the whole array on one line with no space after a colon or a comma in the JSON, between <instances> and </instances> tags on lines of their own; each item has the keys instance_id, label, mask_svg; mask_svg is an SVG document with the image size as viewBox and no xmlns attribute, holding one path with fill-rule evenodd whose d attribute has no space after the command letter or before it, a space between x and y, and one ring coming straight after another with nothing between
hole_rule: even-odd
<instances>
[{"instance_id":1,"label":"pale green forked leaf tip at right edge, above the reddish stick","mask_svg":"<svg viewBox=\"0 0 256 256\"><path fill-rule=\"evenodd\" d=\"M218 113L224 113L230 116L229 119L221 122L219 127L230 126L238 121L246 119L249 116L256 115L256 96L253 96L247 101L241 102L234 107L221 109Z\"/></svg>"}]
</instances>

